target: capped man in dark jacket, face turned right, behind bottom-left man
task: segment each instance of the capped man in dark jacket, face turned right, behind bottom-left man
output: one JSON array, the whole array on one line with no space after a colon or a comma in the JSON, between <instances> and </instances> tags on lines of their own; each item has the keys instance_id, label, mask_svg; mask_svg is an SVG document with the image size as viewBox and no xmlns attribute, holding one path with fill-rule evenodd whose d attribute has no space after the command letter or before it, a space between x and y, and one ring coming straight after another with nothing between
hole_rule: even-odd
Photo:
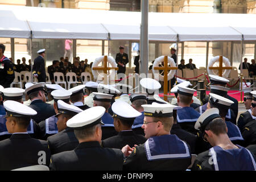
<instances>
[{"instance_id":1,"label":"capped man in dark jacket, face turned right, behind bottom-left man","mask_svg":"<svg viewBox=\"0 0 256 182\"><path fill-rule=\"evenodd\" d=\"M51 104L46 104L47 92L44 89L45 84L46 83L44 82L39 82L25 89L25 93L31 100L30 107L38 112L31 117L36 123L55 115L53 106Z\"/></svg>"}]
</instances>

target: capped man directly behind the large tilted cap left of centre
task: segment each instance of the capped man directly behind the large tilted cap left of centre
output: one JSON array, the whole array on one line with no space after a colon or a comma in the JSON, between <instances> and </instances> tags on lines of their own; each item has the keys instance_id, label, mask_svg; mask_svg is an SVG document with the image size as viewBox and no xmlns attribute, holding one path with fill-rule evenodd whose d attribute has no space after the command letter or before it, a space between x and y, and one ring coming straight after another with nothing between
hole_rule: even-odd
<instances>
[{"instance_id":1,"label":"capped man directly behind the large tilted cap left of centre","mask_svg":"<svg viewBox=\"0 0 256 182\"><path fill-rule=\"evenodd\" d=\"M69 89L69 91L72 92L70 96L71 103L82 110L89 108L88 105L84 105L84 88L85 85L78 85Z\"/></svg>"}]
</instances>

